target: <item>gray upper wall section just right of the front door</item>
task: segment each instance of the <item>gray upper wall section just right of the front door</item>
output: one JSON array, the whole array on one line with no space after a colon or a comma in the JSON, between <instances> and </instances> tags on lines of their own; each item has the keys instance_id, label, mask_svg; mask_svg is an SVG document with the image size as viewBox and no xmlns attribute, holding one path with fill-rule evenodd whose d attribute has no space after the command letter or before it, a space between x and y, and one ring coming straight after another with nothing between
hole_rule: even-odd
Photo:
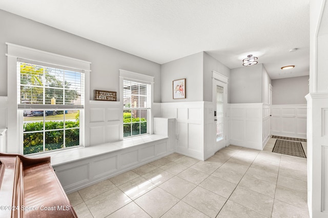
<instances>
[{"instance_id":1,"label":"gray upper wall section just right of the front door","mask_svg":"<svg viewBox=\"0 0 328 218\"><path fill-rule=\"evenodd\" d=\"M230 70L230 103L262 103L262 64Z\"/></svg>"}]
</instances>

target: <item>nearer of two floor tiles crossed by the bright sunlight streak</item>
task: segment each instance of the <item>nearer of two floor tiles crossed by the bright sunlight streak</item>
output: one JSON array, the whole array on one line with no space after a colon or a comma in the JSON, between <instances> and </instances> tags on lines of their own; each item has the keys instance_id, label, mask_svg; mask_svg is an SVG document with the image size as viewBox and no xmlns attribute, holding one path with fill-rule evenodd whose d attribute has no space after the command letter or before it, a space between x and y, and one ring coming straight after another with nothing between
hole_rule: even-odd
<instances>
[{"instance_id":1,"label":"nearer of two floor tiles crossed by the bright sunlight streak","mask_svg":"<svg viewBox=\"0 0 328 218\"><path fill-rule=\"evenodd\" d=\"M155 187L156 185L143 177L137 177L118 186L118 188L121 189L132 200L137 199Z\"/></svg>"}]
</instances>

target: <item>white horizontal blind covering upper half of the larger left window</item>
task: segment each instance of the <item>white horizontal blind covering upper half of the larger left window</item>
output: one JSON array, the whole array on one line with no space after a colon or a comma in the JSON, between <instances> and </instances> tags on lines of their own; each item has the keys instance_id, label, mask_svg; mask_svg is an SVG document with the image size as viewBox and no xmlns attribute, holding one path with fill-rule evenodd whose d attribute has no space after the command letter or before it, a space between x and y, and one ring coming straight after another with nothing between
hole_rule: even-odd
<instances>
[{"instance_id":1,"label":"white horizontal blind covering upper half of the larger left window","mask_svg":"<svg viewBox=\"0 0 328 218\"><path fill-rule=\"evenodd\" d=\"M18 109L83 109L84 71L17 59Z\"/></svg>"}]
</instances>

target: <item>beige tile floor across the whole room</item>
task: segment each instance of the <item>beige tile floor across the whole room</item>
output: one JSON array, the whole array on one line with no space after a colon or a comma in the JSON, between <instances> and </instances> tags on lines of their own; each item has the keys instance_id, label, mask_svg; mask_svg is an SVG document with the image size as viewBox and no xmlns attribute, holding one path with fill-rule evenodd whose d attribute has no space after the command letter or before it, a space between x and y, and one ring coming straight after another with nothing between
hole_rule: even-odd
<instances>
[{"instance_id":1,"label":"beige tile floor across the whole room","mask_svg":"<svg viewBox=\"0 0 328 218\"><path fill-rule=\"evenodd\" d=\"M309 217L306 159L272 153L275 140L206 161L174 153L68 198L78 217Z\"/></svg>"}]
</instances>

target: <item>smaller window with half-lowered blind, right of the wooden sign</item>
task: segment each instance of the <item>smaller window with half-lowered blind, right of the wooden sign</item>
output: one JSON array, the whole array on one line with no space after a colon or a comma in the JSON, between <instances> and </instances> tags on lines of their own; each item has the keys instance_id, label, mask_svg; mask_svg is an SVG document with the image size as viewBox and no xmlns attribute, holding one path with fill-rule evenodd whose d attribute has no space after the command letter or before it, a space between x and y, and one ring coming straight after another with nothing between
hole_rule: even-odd
<instances>
[{"instance_id":1,"label":"smaller window with half-lowered blind, right of the wooden sign","mask_svg":"<svg viewBox=\"0 0 328 218\"><path fill-rule=\"evenodd\" d=\"M147 119L151 109L151 85L124 79L123 101L124 137L147 134Z\"/></svg>"}]
</instances>

